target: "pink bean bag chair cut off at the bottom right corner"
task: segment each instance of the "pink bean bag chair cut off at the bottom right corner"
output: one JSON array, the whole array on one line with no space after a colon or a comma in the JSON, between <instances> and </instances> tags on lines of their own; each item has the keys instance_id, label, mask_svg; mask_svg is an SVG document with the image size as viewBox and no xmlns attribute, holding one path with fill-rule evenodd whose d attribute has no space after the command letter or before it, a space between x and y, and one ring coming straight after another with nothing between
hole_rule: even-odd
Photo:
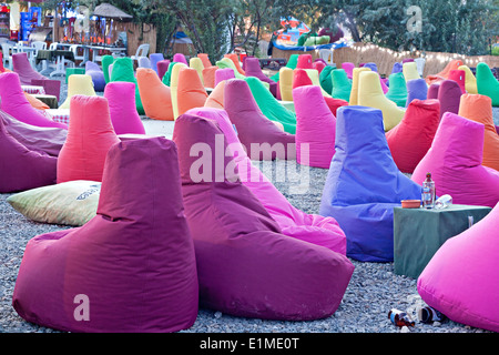
<instances>
[{"instance_id":1,"label":"pink bean bag chair cut off at the bottom right corner","mask_svg":"<svg viewBox=\"0 0 499 355\"><path fill-rule=\"evenodd\" d=\"M421 298L450 320L499 332L499 205L447 240L418 277Z\"/></svg>"}]
</instances>

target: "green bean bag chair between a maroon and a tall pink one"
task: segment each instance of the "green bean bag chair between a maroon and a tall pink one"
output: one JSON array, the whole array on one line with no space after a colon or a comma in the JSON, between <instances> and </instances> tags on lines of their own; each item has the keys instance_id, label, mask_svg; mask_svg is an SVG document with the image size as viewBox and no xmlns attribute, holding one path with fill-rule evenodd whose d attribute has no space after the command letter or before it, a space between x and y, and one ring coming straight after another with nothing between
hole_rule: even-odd
<instances>
[{"instance_id":1,"label":"green bean bag chair between a maroon and a tall pink one","mask_svg":"<svg viewBox=\"0 0 499 355\"><path fill-rule=\"evenodd\" d=\"M262 113L268 120L282 123L285 132L295 134L296 113L283 106L258 78L247 77L245 81Z\"/></svg>"}]
</instances>

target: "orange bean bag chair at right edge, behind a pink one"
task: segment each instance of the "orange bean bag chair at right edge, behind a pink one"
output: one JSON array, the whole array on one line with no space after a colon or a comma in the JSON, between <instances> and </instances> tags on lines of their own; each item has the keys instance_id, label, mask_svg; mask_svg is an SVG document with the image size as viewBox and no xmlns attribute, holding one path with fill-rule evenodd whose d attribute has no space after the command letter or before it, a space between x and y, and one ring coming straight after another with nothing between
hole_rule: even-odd
<instances>
[{"instance_id":1,"label":"orange bean bag chair at right edge, behind a pink one","mask_svg":"<svg viewBox=\"0 0 499 355\"><path fill-rule=\"evenodd\" d=\"M493 124L492 100L487 95L465 93L461 95L458 114L485 125L481 164L499 171L499 134Z\"/></svg>"}]
</instances>

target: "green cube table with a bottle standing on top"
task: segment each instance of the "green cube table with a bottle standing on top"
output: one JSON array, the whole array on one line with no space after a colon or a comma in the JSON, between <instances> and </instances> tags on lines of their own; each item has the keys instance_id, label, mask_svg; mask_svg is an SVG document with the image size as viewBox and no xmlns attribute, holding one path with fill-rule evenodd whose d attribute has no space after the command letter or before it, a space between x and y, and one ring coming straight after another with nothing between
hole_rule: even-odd
<instances>
[{"instance_id":1,"label":"green cube table with a bottle standing on top","mask_svg":"<svg viewBox=\"0 0 499 355\"><path fill-rule=\"evenodd\" d=\"M490 207L449 205L442 210L394 209L394 272L417 278L450 237L483 219ZM458 260L457 260L458 261Z\"/></svg>"}]
</instances>

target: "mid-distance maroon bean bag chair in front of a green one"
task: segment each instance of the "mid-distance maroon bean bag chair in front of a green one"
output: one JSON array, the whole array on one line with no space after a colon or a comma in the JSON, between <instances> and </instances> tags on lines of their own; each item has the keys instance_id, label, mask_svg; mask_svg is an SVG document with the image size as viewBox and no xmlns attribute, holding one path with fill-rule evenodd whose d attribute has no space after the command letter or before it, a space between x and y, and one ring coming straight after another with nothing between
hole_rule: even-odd
<instances>
[{"instance_id":1,"label":"mid-distance maroon bean bag chair in front of a green one","mask_svg":"<svg viewBox=\"0 0 499 355\"><path fill-rule=\"evenodd\" d=\"M224 108L252 160L296 159L295 135L262 113L245 80L225 82Z\"/></svg>"}]
</instances>

